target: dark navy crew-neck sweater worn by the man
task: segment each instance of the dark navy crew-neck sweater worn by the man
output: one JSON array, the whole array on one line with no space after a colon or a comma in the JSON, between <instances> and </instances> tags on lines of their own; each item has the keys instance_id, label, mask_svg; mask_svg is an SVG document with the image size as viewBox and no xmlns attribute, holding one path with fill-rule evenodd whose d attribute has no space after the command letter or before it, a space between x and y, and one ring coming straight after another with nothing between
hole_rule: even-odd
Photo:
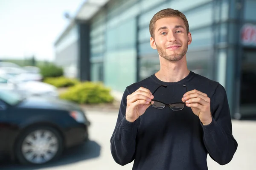
<instances>
[{"instance_id":1,"label":"dark navy crew-neck sweater worn by the man","mask_svg":"<svg viewBox=\"0 0 256 170\"><path fill-rule=\"evenodd\" d=\"M165 103L182 102L188 91L196 89L211 99L212 122L203 125L191 108L181 111L150 106L134 122L125 119L126 96L140 87L148 88L154 99ZM218 164L231 161L237 149L232 135L227 94L222 85L190 71L179 82L162 82L153 74L129 85L123 94L116 127L111 136L111 153L120 165L134 161L133 170L207 170L207 154Z\"/></svg>"}]
</instances>

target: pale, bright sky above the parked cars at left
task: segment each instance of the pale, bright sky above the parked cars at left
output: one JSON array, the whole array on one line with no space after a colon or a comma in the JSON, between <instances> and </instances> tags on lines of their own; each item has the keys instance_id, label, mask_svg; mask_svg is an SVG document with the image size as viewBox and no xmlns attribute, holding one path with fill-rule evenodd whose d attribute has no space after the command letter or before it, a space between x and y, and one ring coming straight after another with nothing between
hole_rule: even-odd
<instances>
[{"instance_id":1,"label":"pale, bright sky above the parked cars at left","mask_svg":"<svg viewBox=\"0 0 256 170\"><path fill-rule=\"evenodd\" d=\"M84 0L0 0L0 59L52 61L54 42Z\"/></svg>"}]
</instances>

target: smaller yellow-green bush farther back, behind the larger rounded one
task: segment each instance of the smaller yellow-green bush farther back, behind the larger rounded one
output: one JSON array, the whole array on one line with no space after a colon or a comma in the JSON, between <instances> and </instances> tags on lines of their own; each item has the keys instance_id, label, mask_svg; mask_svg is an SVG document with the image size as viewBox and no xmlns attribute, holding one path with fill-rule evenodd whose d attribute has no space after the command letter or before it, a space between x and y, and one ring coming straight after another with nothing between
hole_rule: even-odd
<instances>
[{"instance_id":1,"label":"smaller yellow-green bush farther back, behind the larger rounded one","mask_svg":"<svg viewBox=\"0 0 256 170\"><path fill-rule=\"evenodd\" d=\"M54 85L57 88L70 87L79 83L77 79L69 79L66 77L47 77L44 82Z\"/></svg>"}]
</instances>

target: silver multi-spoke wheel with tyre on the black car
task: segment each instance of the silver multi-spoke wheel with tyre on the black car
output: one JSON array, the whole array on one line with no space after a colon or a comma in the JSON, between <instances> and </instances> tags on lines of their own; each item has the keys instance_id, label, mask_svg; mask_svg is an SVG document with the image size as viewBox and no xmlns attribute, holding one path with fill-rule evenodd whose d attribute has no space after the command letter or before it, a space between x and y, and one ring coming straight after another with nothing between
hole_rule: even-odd
<instances>
[{"instance_id":1,"label":"silver multi-spoke wheel with tyre on the black car","mask_svg":"<svg viewBox=\"0 0 256 170\"><path fill-rule=\"evenodd\" d=\"M61 155L62 141L60 133L52 127L33 127L20 136L17 159L22 164L45 164Z\"/></svg>"}]
</instances>

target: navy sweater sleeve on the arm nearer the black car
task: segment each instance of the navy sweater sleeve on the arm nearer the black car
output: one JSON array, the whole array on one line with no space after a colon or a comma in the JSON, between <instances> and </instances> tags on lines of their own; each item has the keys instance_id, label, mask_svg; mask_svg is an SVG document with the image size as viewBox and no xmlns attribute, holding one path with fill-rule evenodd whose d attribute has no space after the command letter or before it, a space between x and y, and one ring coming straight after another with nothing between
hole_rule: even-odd
<instances>
[{"instance_id":1,"label":"navy sweater sleeve on the arm nearer the black car","mask_svg":"<svg viewBox=\"0 0 256 170\"><path fill-rule=\"evenodd\" d=\"M122 96L116 126L111 136L111 154L116 163L125 165L134 160L137 130L140 124L140 117L134 122L125 119L126 97L128 90Z\"/></svg>"}]
</instances>

